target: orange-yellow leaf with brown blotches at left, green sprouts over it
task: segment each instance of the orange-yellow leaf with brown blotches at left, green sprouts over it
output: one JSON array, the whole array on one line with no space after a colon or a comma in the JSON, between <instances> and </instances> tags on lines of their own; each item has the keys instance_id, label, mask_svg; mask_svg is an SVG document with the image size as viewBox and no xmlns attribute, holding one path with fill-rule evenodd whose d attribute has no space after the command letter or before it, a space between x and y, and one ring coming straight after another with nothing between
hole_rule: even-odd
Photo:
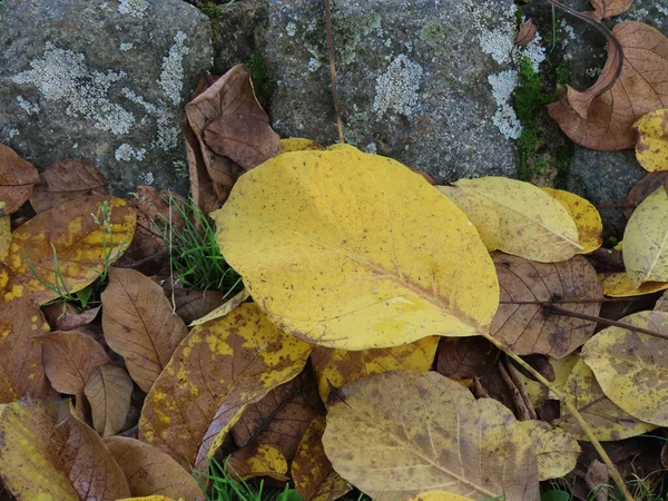
<instances>
[{"instance_id":1,"label":"orange-yellow leaf with brown blotches at left, green sprouts over it","mask_svg":"<svg viewBox=\"0 0 668 501\"><path fill-rule=\"evenodd\" d=\"M109 226L98 225L92 215L101 216L102 204L108 204ZM104 223L100 220L100 223ZM56 284L55 254L61 277L59 284L71 294L92 283L106 263L114 263L132 239L136 216L120 198L92 195L65 203L38 214L12 233L6 263L13 274L6 286L4 301L29 294L35 301L46 303L59 297L30 271L48 284ZM1 281L0 281L1 282Z\"/></svg>"}]
</instances>

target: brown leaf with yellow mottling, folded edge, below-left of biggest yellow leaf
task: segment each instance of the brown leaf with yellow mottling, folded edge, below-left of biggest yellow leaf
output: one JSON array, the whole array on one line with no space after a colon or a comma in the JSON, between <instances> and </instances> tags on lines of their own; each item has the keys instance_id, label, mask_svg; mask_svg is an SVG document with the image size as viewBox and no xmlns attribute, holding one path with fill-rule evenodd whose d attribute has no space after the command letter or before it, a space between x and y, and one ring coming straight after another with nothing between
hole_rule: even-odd
<instances>
[{"instance_id":1,"label":"brown leaf with yellow mottling, folded edge, below-left of biggest yellow leaf","mask_svg":"<svg viewBox=\"0 0 668 501\"><path fill-rule=\"evenodd\" d=\"M139 439L186 469L206 469L246 405L296 376L310 352L253 303L198 325L148 392Z\"/></svg>"}]
</instances>

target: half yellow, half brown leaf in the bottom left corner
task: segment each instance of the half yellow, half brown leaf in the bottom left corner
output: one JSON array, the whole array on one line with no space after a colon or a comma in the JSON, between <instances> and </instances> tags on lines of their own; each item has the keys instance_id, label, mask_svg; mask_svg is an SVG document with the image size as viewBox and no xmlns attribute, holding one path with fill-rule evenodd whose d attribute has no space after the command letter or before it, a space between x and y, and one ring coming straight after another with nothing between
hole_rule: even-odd
<instances>
[{"instance_id":1,"label":"half yellow, half brown leaf in the bottom left corner","mask_svg":"<svg viewBox=\"0 0 668 501\"><path fill-rule=\"evenodd\" d=\"M116 501L130 495L95 431L60 401L16 402L0 415L0 471L18 501Z\"/></svg>"}]
</instances>

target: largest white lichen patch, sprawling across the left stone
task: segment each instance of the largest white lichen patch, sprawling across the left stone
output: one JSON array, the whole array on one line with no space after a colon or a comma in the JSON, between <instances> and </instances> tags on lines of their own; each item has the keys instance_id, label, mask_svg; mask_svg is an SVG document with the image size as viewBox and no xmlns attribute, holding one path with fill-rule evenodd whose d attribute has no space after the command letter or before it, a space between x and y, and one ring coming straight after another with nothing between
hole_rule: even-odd
<instances>
[{"instance_id":1,"label":"largest white lichen patch, sprawling across the left stone","mask_svg":"<svg viewBox=\"0 0 668 501\"><path fill-rule=\"evenodd\" d=\"M30 67L11 80L33 85L47 100L67 102L66 115L85 117L94 121L94 127L114 134L127 134L135 124L135 117L108 97L111 85L126 76L124 71L91 70L82 53L51 42L47 42L41 58L30 61Z\"/></svg>"}]
</instances>

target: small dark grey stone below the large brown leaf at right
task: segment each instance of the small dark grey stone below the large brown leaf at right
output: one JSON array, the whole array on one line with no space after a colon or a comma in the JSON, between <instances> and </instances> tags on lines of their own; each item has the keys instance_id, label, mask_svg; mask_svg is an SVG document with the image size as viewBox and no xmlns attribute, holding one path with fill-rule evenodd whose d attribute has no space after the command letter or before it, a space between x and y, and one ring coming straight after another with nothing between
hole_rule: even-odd
<instances>
[{"instance_id":1,"label":"small dark grey stone below the large brown leaf at right","mask_svg":"<svg viewBox=\"0 0 668 501\"><path fill-rule=\"evenodd\" d=\"M567 189L595 205L623 204L629 189L646 174L632 150L595 151L576 147ZM600 208L599 212L603 219L603 236L621 239L626 226L621 209Z\"/></svg>"}]
</instances>

